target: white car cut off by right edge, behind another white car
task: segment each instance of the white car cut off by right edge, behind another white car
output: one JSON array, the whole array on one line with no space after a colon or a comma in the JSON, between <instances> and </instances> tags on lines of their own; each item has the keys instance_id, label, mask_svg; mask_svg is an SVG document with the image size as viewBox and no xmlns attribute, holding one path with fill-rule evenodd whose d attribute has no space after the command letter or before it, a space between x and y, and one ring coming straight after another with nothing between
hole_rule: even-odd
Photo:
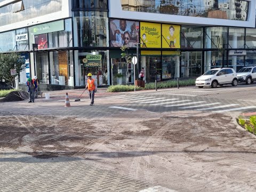
<instances>
[{"instance_id":1,"label":"white car cut off by right edge, behind another white car","mask_svg":"<svg viewBox=\"0 0 256 192\"><path fill-rule=\"evenodd\" d=\"M256 67L243 67L237 72L238 82L245 82L247 85L256 80Z\"/></svg>"}]
</instances>

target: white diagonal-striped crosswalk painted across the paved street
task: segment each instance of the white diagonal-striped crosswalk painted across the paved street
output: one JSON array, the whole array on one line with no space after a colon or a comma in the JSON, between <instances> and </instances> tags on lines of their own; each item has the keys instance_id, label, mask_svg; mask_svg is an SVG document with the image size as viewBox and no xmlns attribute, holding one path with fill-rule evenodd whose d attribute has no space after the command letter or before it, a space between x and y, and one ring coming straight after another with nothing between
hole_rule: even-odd
<instances>
[{"instance_id":1,"label":"white diagonal-striped crosswalk painted across the paved street","mask_svg":"<svg viewBox=\"0 0 256 192\"><path fill-rule=\"evenodd\" d=\"M131 104L145 105L145 107L161 106L166 108L189 109L196 111L211 111L214 113L225 113L228 111L244 111L247 109L255 109L256 106L242 106L244 103L224 103L224 102L209 102L204 100L182 99L182 98L166 98L141 95L116 95L109 99L119 99ZM238 101L239 102L239 101Z\"/></svg>"}]
</instances>

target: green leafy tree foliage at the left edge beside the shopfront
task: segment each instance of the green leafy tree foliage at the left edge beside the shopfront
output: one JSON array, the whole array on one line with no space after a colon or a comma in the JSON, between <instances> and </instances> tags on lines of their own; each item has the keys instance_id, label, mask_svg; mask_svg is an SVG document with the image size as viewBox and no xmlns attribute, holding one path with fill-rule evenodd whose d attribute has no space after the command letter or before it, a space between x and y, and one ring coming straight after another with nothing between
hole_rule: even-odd
<instances>
[{"instance_id":1,"label":"green leafy tree foliage at the left edge beside the shopfront","mask_svg":"<svg viewBox=\"0 0 256 192\"><path fill-rule=\"evenodd\" d=\"M13 81L14 77L19 75L25 67L25 60L20 57L19 53L0 53L0 77ZM11 75L11 69L16 69L15 76Z\"/></svg>"}]
</instances>

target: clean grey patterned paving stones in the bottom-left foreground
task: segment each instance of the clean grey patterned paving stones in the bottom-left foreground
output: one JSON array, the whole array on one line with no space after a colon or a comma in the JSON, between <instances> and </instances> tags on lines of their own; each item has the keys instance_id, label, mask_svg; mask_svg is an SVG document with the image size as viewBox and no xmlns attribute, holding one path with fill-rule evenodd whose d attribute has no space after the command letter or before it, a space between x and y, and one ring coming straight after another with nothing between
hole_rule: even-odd
<instances>
[{"instance_id":1,"label":"clean grey patterned paving stones in the bottom-left foreground","mask_svg":"<svg viewBox=\"0 0 256 192\"><path fill-rule=\"evenodd\" d=\"M146 183L72 157L39 159L0 150L0 191L139 191Z\"/></svg>"}]
</instances>

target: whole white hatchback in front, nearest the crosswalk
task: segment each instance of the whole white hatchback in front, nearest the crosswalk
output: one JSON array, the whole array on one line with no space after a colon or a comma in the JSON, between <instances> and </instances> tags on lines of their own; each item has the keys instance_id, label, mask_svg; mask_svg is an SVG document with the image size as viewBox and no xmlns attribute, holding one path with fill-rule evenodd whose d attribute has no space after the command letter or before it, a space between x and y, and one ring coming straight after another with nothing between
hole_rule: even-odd
<instances>
[{"instance_id":1,"label":"whole white hatchback in front, nearest the crosswalk","mask_svg":"<svg viewBox=\"0 0 256 192\"><path fill-rule=\"evenodd\" d=\"M236 86L237 83L236 71L232 68L211 69L196 79L198 88L203 88L204 86L216 88L218 85L222 86L224 84Z\"/></svg>"}]
</instances>

